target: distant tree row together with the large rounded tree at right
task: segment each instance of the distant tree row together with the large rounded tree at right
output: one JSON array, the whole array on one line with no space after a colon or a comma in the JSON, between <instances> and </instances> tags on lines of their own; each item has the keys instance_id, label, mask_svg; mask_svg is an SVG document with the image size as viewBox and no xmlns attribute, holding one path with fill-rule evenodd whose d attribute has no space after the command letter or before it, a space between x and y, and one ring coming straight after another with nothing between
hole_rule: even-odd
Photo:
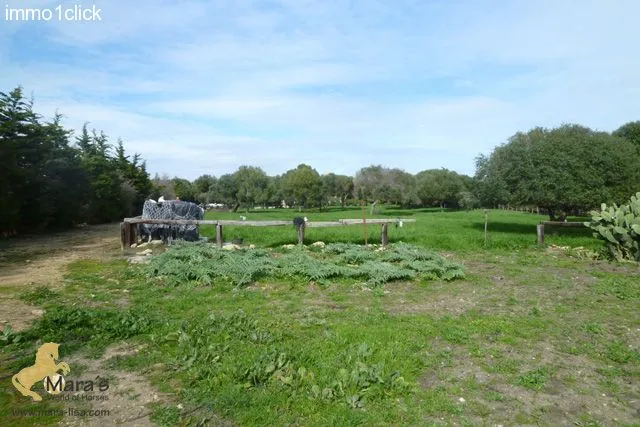
<instances>
[{"instance_id":1,"label":"distant tree row together with the large rounded tree at right","mask_svg":"<svg viewBox=\"0 0 640 427\"><path fill-rule=\"evenodd\" d=\"M241 166L216 178L193 182L154 178L155 195L196 203L241 207L300 208L342 206L366 201L402 207L474 209L512 206L542 209L552 220L582 214L601 203L621 203L640 191L640 121L612 133L565 124L554 129L518 132L489 155L476 158L473 177L447 169L415 175L371 165L351 176L320 175L301 164L268 176L255 166Z\"/></svg>"}]
</instances>

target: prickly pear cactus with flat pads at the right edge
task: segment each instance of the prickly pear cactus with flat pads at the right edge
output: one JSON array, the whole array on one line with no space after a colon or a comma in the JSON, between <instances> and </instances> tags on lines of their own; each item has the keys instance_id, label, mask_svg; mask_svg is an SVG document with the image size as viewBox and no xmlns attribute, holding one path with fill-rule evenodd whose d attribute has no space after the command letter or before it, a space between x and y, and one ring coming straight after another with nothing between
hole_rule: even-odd
<instances>
[{"instance_id":1,"label":"prickly pear cactus with flat pads at the right edge","mask_svg":"<svg viewBox=\"0 0 640 427\"><path fill-rule=\"evenodd\" d=\"M584 225L593 235L605 241L611 256L617 260L640 261L640 193L628 204L607 206L591 212L591 222Z\"/></svg>"}]
</instances>

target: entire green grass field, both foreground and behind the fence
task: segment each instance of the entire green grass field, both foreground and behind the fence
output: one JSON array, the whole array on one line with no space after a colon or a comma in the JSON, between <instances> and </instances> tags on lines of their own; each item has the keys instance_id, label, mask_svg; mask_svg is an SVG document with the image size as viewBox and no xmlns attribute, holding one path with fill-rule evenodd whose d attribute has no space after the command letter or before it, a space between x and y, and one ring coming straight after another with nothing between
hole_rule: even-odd
<instances>
[{"instance_id":1,"label":"entire green grass field, both foreground and behind the fence","mask_svg":"<svg viewBox=\"0 0 640 427\"><path fill-rule=\"evenodd\" d=\"M207 218L240 215L314 221L361 211ZM45 314L0 341L0 410L9 425L63 420L10 413L64 406L30 403L9 382L33 363L36 342L54 341L62 360L77 361L69 378L98 361L116 381L130 378L123 373L148 379L152 388L132 399L158 425L639 425L637 265L539 248L535 224L545 218L532 214L490 211L486 245L482 211L385 209L376 217L415 218L391 226L391 242L438 253L462 265L464 277L368 286L353 277L265 274L238 287L216 277L208 285L170 283L119 260L75 261L60 288L22 294ZM211 228L201 231L214 237ZM305 243L361 244L362 233L361 226L311 228ZM587 230L547 233L548 244L600 247ZM276 260L296 239L293 225L225 227L224 234L272 248ZM379 243L379 226L368 234ZM205 262L195 256L184 265Z\"/></svg>"}]
</instances>

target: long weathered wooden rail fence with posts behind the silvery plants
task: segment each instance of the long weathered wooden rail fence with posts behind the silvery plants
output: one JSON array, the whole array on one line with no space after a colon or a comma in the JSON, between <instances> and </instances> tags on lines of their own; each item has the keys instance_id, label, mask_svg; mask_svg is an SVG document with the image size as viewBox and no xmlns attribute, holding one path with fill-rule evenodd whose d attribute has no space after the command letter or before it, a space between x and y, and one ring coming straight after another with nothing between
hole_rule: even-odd
<instances>
[{"instance_id":1,"label":"long weathered wooden rail fence with posts behind the silvery plants","mask_svg":"<svg viewBox=\"0 0 640 427\"><path fill-rule=\"evenodd\" d=\"M398 222L416 222L413 218L397 218L397 219L339 219L337 221L310 221L296 227L298 235L298 244L304 241L305 228L314 227L342 227L347 225L367 225L381 224L382 236L381 243L386 246L389 243L388 228L389 224ZM129 248L136 243L139 235L139 224L163 224L163 225L215 225L216 226L216 243L222 247L222 226L241 226L241 227L274 227L274 226L291 226L293 221L239 221L239 220L215 220L215 219L147 219L147 218L125 218L120 223L120 240L122 249Z\"/></svg>"}]
</instances>

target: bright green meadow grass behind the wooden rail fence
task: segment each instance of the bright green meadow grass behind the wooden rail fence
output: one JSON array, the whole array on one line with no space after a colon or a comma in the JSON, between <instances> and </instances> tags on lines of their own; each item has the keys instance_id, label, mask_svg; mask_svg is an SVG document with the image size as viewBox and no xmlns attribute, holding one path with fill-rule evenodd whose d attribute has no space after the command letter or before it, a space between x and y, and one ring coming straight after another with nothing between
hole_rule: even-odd
<instances>
[{"instance_id":1,"label":"bright green meadow grass behind the wooden rail fence","mask_svg":"<svg viewBox=\"0 0 640 427\"><path fill-rule=\"evenodd\" d=\"M276 220L291 219L296 216L307 216L309 221L331 221L346 218L362 218L362 210L350 208L346 210L329 210L326 212L298 212L293 209L273 209L246 212L207 212L206 219L240 219ZM370 217L369 212L366 212ZM469 252L480 249L511 251L526 249L536 245L536 224L549 218L524 212L502 210L489 211L488 240L484 242L484 213L482 210L470 212L445 211L439 209L398 209L381 208L372 217L394 219L412 218L415 223L405 223L402 228L389 227L391 242L406 242L430 249ZM591 232L585 229L554 229L547 227L545 241L560 246L584 246L598 248L600 243L593 239ZM213 226L201 228L203 236L215 239ZM244 239L245 244L275 247L296 242L296 231L293 227L233 227L223 228L225 240L235 237ZM367 225L368 243L380 243L380 225ZM364 230L361 225L345 227L309 228L305 232L305 242L315 241L364 243Z\"/></svg>"}]
</instances>

